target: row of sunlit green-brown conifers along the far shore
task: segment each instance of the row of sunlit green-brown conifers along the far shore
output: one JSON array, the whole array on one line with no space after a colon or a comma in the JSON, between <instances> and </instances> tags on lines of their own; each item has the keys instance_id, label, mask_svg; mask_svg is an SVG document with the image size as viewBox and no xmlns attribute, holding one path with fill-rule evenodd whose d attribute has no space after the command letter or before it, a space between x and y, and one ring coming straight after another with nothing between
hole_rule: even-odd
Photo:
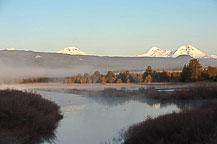
<instances>
[{"instance_id":1,"label":"row of sunlit green-brown conifers along the far shore","mask_svg":"<svg viewBox=\"0 0 217 144\"><path fill-rule=\"evenodd\" d=\"M199 60L192 59L188 65L184 65L182 72L161 72L153 71L148 66L143 74L130 73L129 71L115 74L108 71L106 75L100 74L99 71L93 75L85 73L82 75L58 78L29 78L19 81L20 83L151 83L151 82L196 82L196 81L217 81L217 68L208 66L202 68Z\"/></svg>"}]
</instances>

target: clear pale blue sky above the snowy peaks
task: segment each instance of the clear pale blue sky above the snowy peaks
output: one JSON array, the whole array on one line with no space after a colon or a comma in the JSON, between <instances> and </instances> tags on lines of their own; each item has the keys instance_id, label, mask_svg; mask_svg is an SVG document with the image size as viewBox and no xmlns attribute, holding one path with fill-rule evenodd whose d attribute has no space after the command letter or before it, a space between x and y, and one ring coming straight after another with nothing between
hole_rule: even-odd
<instances>
[{"instance_id":1,"label":"clear pale blue sky above the snowy peaks","mask_svg":"<svg viewBox=\"0 0 217 144\"><path fill-rule=\"evenodd\" d=\"M188 44L217 54L217 0L0 0L0 49L135 56Z\"/></svg>"}]
</instances>

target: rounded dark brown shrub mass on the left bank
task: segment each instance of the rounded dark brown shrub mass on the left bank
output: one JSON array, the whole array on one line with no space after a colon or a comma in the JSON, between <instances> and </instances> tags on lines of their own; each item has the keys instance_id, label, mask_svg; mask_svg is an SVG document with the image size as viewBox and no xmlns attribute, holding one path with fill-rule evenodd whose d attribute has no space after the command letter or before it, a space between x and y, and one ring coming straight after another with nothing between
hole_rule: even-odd
<instances>
[{"instance_id":1,"label":"rounded dark brown shrub mass on the left bank","mask_svg":"<svg viewBox=\"0 0 217 144\"><path fill-rule=\"evenodd\" d=\"M5 143L5 137L34 143L53 135L63 118L59 109L36 93L0 90L0 143Z\"/></svg>"}]
</instances>

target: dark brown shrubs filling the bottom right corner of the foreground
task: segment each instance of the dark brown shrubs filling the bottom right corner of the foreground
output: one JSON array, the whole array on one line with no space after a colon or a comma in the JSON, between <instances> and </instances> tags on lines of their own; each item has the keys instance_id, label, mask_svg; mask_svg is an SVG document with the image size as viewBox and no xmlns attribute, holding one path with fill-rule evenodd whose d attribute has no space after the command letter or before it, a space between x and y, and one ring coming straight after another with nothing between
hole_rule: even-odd
<instances>
[{"instance_id":1,"label":"dark brown shrubs filling the bottom right corner of the foreground","mask_svg":"<svg viewBox=\"0 0 217 144\"><path fill-rule=\"evenodd\" d=\"M214 144L217 142L217 101L134 125L124 144Z\"/></svg>"}]
</instances>

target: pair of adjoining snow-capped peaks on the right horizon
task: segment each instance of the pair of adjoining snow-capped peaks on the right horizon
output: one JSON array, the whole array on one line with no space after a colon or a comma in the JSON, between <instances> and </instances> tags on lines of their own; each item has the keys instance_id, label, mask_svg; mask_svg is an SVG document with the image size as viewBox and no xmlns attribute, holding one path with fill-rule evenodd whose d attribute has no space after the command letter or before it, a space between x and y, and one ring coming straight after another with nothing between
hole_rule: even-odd
<instances>
[{"instance_id":1,"label":"pair of adjoining snow-capped peaks on the right horizon","mask_svg":"<svg viewBox=\"0 0 217 144\"><path fill-rule=\"evenodd\" d=\"M161 50L156 47L152 47L144 54L138 55L138 57L172 57L176 58L180 55L189 55L193 58L217 58L216 55L208 55L200 51L192 45L181 46L175 51Z\"/></svg>"}]
</instances>

